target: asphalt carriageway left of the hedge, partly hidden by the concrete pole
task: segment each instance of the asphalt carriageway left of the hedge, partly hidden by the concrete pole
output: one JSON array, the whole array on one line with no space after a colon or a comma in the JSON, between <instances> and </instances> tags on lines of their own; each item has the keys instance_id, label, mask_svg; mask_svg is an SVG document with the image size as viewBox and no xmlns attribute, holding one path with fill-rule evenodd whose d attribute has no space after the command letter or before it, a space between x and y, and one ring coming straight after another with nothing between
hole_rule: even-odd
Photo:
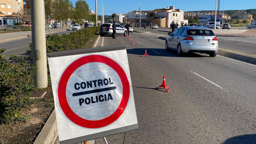
<instances>
[{"instance_id":1,"label":"asphalt carriageway left of the hedge, partly hidden by the concrete pole","mask_svg":"<svg viewBox=\"0 0 256 144\"><path fill-rule=\"evenodd\" d=\"M62 31L62 32L56 32L53 34L62 35L62 34L69 34L71 32L72 32L72 30L67 30L67 31ZM50 35L53 35L53 34L50 34ZM49 35L49 34L47 34L47 35ZM29 48L29 43L31 43L31 42L32 42L31 37L1 42L0 48L6 48L6 51L1 54L5 55L6 57L9 57L11 54L18 54L18 55L25 54L26 50L28 50L28 48Z\"/></svg>"}]
</instances>

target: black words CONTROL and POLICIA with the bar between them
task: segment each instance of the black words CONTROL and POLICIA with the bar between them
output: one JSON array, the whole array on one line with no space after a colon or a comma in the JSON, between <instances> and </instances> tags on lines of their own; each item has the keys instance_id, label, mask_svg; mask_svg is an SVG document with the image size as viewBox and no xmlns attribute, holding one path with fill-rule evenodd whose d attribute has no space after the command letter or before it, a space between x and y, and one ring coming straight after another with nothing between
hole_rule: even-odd
<instances>
[{"instance_id":1,"label":"black words CONTROL and POLICIA with the bar between them","mask_svg":"<svg viewBox=\"0 0 256 144\"><path fill-rule=\"evenodd\" d=\"M87 81L87 82L82 82L82 83L75 83L74 87L76 90L80 89L86 89L86 88L92 88L93 86L100 87L100 86L107 86L107 85L113 85L111 82L110 78L105 78L105 79L100 79L100 80L94 80L94 81ZM93 93L98 93L98 92L104 92L104 91L110 91L110 90L115 90L116 87L108 87L108 88L102 88L102 89L95 89L95 90L90 90L90 91L84 91L84 92L78 92L74 93L73 96L81 96L81 95L87 95L87 94L93 94ZM109 101L113 100L111 94L104 94L104 95L99 95L91 98L85 98L85 99L79 99L79 105L82 106L83 103L89 105L90 103L98 103L98 102L103 102L103 101Z\"/></svg>"}]
</instances>

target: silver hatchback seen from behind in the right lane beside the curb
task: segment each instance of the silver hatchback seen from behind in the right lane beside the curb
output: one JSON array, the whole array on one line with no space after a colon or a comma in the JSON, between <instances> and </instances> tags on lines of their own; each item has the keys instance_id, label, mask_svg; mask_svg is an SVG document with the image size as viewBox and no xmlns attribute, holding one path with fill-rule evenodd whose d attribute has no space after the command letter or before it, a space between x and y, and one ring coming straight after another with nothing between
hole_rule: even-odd
<instances>
[{"instance_id":1,"label":"silver hatchback seen from behind in the right lane beside the curb","mask_svg":"<svg viewBox=\"0 0 256 144\"><path fill-rule=\"evenodd\" d=\"M215 57L218 53L218 38L206 27L183 26L168 33L165 49L173 49L180 56L186 52L199 52Z\"/></svg>"}]
</instances>

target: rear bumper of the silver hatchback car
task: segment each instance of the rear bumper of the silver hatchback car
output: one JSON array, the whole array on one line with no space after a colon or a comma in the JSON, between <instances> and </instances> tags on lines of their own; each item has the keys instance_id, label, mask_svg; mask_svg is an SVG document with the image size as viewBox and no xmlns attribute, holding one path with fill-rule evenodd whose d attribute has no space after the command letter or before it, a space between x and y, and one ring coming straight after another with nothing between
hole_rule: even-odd
<instances>
[{"instance_id":1,"label":"rear bumper of the silver hatchback car","mask_svg":"<svg viewBox=\"0 0 256 144\"><path fill-rule=\"evenodd\" d=\"M181 43L182 52L218 53L219 44L197 45L193 43ZM208 52L207 52L208 51Z\"/></svg>"}]
</instances>

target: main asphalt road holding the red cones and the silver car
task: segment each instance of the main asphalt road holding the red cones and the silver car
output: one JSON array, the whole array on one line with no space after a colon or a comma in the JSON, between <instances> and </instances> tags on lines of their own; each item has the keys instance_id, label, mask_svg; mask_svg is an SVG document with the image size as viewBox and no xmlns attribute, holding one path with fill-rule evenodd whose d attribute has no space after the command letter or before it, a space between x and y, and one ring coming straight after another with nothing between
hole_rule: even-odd
<instances>
[{"instance_id":1,"label":"main asphalt road holding the red cones and the silver car","mask_svg":"<svg viewBox=\"0 0 256 144\"><path fill-rule=\"evenodd\" d=\"M124 36L105 36L98 43L127 44L139 129L127 132L125 143L181 143L186 137L181 138L178 129L183 126L187 143L255 144L256 66L219 55L178 57L164 49L159 35L130 33L136 45ZM145 49L150 57L141 57ZM163 75L169 93L154 90ZM111 144L120 144L123 138L124 133L106 137ZM95 141L102 143L102 138Z\"/></svg>"}]
</instances>

